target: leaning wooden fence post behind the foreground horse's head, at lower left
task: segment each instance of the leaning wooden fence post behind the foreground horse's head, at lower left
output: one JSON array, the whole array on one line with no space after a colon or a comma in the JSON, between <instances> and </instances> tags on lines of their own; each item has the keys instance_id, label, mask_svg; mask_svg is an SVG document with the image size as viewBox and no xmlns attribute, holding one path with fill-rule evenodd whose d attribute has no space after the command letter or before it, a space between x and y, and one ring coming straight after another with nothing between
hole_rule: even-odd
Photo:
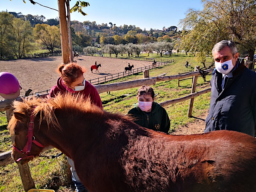
<instances>
[{"instance_id":1,"label":"leaning wooden fence post behind the foreground horse's head, at lower left","mask_svg":"<svg viewBox=\"0 0 256 192\"><path fill-rule=\"evenodd\" d=\"M13 111L13 109L6 110L6 119L7 119L8 123L10 121L12 111ZM13 143L14 140L15 140L15 136L11 136L11 140L12 140L12 143ZM18 168L19 168L20 178L21 178L24 190L28 191L31 188L36 188L34 180L32 179L31 174L30 174L28 163L24 164L24 165L21 165L21 164L17 164L17 165L18 165Z\"/></svg>"}]
</instances>

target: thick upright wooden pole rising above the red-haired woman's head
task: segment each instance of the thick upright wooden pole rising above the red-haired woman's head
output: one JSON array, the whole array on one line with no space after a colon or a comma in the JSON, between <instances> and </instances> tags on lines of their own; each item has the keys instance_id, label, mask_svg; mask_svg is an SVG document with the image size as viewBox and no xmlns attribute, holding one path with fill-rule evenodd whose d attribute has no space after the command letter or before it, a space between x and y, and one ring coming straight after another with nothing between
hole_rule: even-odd
<instances>
[{"instance_id":1,"label":"thick upright wooden pole rising above the red-haired woman's head","mask_svg":"<svg viewBox=\"0 0 256 192\"><path fill-rule=\"evenodd\" d=\"M65 0L58 0L59 18L60 18L60 44L62 53L62 62L69 63L69 46L68 46L68 23L66 16Z\"/></svg>"}]
</instances>

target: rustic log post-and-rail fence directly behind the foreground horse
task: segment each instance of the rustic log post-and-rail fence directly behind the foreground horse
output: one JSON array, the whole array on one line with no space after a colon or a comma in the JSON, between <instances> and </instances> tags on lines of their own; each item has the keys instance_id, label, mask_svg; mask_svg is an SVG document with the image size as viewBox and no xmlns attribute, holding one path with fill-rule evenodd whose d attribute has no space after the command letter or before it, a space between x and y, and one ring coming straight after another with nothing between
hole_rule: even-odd
<instances>
[{"instance_id":1,"label":"rustic log post-and-rail fence directly behind the foreground horse","mask_svg":"<svg viewBox=\"0 0 256 192\"><path fill-rule=\"evenodd\" d=\"M196 67L198 68L199 66L196 66ZM213 71L213 69L208 69L205 71L206 72L208 71L211 73ZM153 85L153 84L156 84L156 82L158 82L158 81L170 81L170 80L174 80L174 79L184 79L184 78L194 76L191 94L188 94L184 97L180 97L177 99L167 100L167 101L163 101L163 102L159 103L161 106L164 107L167 105L171 105L174 103L178 103L178 102L190 99L189 108L188 108L188 117L190 117L192 114L194 98L211 91L211 88L208 88L208 89L204 89L202 91L195 92L197 77L199 75L200 75L199 71L196 71L196 69L195 69L195 72L190 72L190 73L186 73L186 74L179 74L179 75L173 75L173 76L151 77L151 78L144 78L144 79L127 81L127 82L121 82L121 83L100 84L100 85L94 85L94 86L99 93L102 93L102 92L118 91L118 90L123 90L123 89L140 87L141 85ZM44 95L46 95L46 94L44 94ZM15 100L21 100L21 98L19 97ZM7 120L9 120L10 115L13 110L13 108L11 106L12 101L13 100L0 101L0 111L6 111ZM14 138L12 138L12 141L13 141L13 139ZM51 148L51 147L44 148L44 150L48 150L49 148ZM0 154L0 166L4 166L4 165L14 162L14 160L11 157L11 152L12 152L12 150ZM30 188L35 188L35 184L31 177L28 164L24 164L24 165L18 164L18 168L20 170L20 177L21 177L25 191L28 191Z\"/></svg>"}]
</instances>

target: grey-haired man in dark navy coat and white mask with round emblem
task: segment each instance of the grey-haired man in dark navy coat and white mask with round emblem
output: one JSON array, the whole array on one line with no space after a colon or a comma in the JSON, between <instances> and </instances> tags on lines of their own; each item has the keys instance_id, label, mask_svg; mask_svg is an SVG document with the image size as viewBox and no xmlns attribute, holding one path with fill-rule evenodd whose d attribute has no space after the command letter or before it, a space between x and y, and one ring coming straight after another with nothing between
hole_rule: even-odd
<instances>
[{"instance_id":1,"label":"grey-haired man in dark navy coat and white mask with round emblem","mask_svg":"<svg viewBox=\"0 0 256 192\"><path fill-rule=\"evenodd\" d=\"M232 130L255 136L256 73L240 64L236 45L223 40L212 49L211 103L204 132Z\"/></svg>"}]
</instances>

